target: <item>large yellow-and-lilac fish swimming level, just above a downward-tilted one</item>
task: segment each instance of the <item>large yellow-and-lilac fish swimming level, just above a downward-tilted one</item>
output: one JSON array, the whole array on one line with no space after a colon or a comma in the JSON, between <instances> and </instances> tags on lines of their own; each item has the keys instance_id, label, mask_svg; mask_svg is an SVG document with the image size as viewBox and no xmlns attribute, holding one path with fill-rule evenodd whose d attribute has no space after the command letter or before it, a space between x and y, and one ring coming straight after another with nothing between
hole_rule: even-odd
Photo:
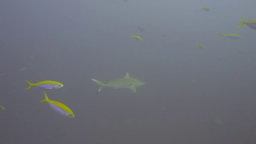
<instances>
[{"instance_id":1,"label":"large yellow-and-lilac fish swimming level, just above a downward-tilted one","mask_svg":"<svg viewBox=\"0 0 256 144\"><path fill-rule=\"evenodd\" d=\"M55 81L51 81L51 80L45 80L45 81L42 81L42 82L38 82L36 84L32 84L31 82L27 81L28 82L29 86L27 88L30 89L32 86L37 86L37 87L40 87L40 88L44 88L44 89L52 89L52 88L61 88L63 86L62 83L60 82L55 82Z\"/></svg>"}]
</instances>

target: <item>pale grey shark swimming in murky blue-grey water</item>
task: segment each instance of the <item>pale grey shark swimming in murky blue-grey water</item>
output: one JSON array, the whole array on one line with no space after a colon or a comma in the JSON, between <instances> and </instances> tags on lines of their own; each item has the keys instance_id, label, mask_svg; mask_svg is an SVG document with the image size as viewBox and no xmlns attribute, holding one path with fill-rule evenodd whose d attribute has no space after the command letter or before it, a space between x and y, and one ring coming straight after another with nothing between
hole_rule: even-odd
<instances>
[{"instance_id":1,"label":"pale grey shark swimming in murky blue-grey water","mask_svg":"<svg viewBox=\"0 0 256 144\"><path fill-rule=\"evenodd\" d=\"M145 84L145 82L142 82L136 78L130 77L128 72L126 72L123 78L110 80L107 83L100 82L99 80L95 80L93 78L92 78L92 81L94 81L99 87L97 94L102 90L102 88L108 88L108 87L112 87L115 89L130 88L136 94L136 87Z\"/></svg>"}]
</instances>

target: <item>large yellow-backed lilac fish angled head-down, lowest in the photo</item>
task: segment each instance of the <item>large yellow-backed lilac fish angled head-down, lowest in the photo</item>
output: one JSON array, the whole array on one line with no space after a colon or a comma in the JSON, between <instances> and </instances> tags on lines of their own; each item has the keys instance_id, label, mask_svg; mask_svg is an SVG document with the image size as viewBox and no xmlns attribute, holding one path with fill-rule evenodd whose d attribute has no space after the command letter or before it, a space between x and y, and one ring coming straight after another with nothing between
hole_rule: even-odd
<instances>
[{"instance_id":1,"label":"large yellow-backed lilac fish angled head-down, lowest in the photo","mask_svg":"<svg viewBox=\"0 0 256 144\"><path fill-rule=\"evenodd\" d=\"M72 110L70 110L70 108L68 108L67 106L65 106L64 104L57 102L55 100L49 100L46 92L44 92L44 97L45 100L40 100L40 102L48 102L48 104L50 105L50 107L55 110L56 112L69 117L69 118L74 118L75 115L72 112Z\"/></svg>"}]
</instances>

